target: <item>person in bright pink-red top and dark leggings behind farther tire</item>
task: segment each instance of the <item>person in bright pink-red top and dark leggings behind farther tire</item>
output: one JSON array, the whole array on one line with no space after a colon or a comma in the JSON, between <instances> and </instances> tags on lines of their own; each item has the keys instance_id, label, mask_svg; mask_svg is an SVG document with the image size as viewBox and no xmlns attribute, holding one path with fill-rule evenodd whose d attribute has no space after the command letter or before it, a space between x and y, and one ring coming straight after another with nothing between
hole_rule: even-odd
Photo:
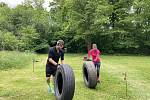
<instances>
[{"instance_id":1,"label":"person in bright pink-red top and dark leggings behind farther tire","mask_svg":"<svg viewBox=\"0 0 150 100\"><path fill-rule=\"evenodd\" d=\"M100 82L100 75L99 75L100 74L100 64L101 64L100 54L101 54L101 52L97 49L97 45L93 44L92 49L89 50L89 52L88 52L88 59L90 58L90 56L92 56L92 61L97 70L97 82Z\"/></svg>"}]
</instances>

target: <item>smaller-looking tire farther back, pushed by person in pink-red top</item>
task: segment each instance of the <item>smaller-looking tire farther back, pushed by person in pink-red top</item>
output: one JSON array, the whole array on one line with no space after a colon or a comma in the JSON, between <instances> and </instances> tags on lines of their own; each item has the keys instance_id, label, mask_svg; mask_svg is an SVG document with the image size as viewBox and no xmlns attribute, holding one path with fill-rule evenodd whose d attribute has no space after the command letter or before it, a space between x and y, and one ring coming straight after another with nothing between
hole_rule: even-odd
<instances>
[{"instance_id":1,"label":"smaller-looking tire farther back, pushed by person in pink-red top","mask_svg":"<svg viewBox=\"0 0 150 100\"><path fill-rule=\"evenodd\" d=\"M83 63L83 79L88 88L95 88L97 85L97 73L92 61Z\"/></svg>"}]
</instances>

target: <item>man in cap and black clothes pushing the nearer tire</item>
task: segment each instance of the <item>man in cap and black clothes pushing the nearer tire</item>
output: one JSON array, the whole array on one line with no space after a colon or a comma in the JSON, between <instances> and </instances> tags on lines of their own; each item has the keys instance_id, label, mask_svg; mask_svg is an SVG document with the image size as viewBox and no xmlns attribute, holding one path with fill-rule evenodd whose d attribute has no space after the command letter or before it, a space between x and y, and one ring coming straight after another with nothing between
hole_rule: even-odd
<instances>
[{"instance_id":1,"label":"man in cap and black clothes pushing the nearer tire","mask_svg":"<svg viewBox=\"0 0 150 100\"><path fill-rule=\"evenodd\" d=\"M48 92L54 93L53 84L50 85L51 75L55 77L57 67L59 66L59 58L61 58L61 64L64 64L64 52L62 48L64 47L64 41L58 40L56 46L51 47L48 54L48 59L46 63L46 80L48 84Z\"/></svg>"}]
</instances>

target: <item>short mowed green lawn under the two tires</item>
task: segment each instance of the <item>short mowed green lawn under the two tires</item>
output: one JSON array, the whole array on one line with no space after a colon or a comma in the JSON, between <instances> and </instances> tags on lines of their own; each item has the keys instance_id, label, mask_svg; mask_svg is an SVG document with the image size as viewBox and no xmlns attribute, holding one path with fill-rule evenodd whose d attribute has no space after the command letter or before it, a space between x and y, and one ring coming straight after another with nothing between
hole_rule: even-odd
<instances>
[{"instance_id":1,"label":"short mowed green lawn under the two tires","mask_svg":"<svg viewBox=\"0 0 150 100\"><path fill-rule=\"evenodd\" d=\"M86 88L82 78L84 54L66 54L65 63L75 74L73 100L150 100L150 56L102 55L101 79L96 89ZM47 93L45 62L47 55L36 55L21 69L0 71L0 100L55 100ZM124 74L127 73L127 96Z\"/></svg>"}]
</instances>

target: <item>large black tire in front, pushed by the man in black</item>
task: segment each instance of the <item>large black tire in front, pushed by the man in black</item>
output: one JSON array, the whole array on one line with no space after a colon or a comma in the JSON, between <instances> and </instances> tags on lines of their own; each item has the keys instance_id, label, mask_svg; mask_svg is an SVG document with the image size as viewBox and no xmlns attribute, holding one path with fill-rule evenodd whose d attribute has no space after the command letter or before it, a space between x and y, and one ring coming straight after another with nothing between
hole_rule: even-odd
<instances>
[{"instance_id":1,"label":"large black tire in front, pushed by the man in black","mask_svg":"<svg viewBox=\"0 0 150 100\"><path fill-rule=\"evenodd\" d=\"M60 65L55 75L56 100L72 100L75 90L75 77L69 65Z\"/></svg>"}]
</instances>

